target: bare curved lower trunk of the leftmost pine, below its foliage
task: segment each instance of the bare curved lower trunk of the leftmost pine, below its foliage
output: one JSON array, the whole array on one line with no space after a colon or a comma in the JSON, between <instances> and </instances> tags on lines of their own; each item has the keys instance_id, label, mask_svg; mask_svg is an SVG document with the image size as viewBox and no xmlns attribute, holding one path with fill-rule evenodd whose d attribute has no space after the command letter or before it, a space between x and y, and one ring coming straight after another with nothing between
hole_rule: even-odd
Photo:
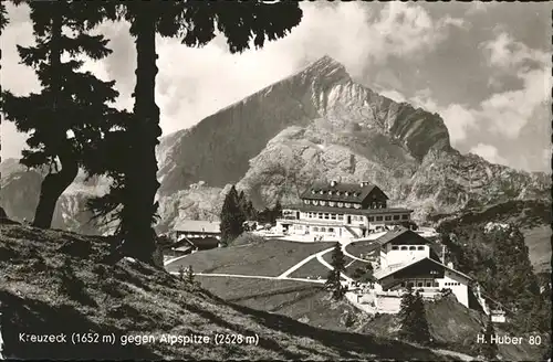
<instances>
[{"instance_id":1,"label":"bare curved lower trunk of the leftmost pine, below its foliage","mask_svg":"<svg viewBox=\"0 0 553 362\"><path fill-rule=\"evenodd\" d=\"M66 140L63 147L64 150L59 153L61 171L49 173L42 181L33 226L49 228L52 225L58 199L75 180L79 172L79 164L71 151L70 141Z\"/></svg>"}]
</instances>

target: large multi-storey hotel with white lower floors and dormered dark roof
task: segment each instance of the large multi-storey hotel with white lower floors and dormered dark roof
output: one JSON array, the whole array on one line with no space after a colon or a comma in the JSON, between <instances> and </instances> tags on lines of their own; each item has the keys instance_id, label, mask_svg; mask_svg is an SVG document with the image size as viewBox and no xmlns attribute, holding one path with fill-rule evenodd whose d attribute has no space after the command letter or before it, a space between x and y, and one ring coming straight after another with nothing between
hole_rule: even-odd
<instances>
[{"instance_id":1,"label":"large multi-storey hotel with white lower floors and dormered dark roof","mask_svg":"<svg viewBox=\"0 0 553 362\"><path fill-rule=\"evenodd\" d=\"M301 203L283 207L276 231L323 238L359 238L410 221L413 210L388 207L388 196L369 182L314 183Z\"/></svg>"}]
</instances>

